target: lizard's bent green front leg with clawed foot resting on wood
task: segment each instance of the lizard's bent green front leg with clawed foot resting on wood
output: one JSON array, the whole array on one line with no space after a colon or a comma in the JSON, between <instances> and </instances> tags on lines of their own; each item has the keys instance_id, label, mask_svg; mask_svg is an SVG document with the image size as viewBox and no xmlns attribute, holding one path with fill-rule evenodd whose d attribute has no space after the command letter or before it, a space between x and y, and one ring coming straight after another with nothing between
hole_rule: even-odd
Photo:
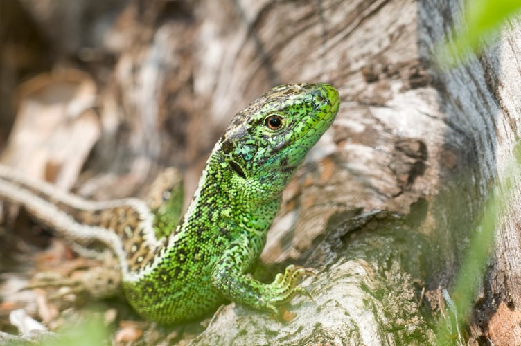
<instances>
[{"instance_id":1,"label":"lizard's bent green front leg with clawed foot resting on wood","mask_svg":"<svg viewBox=\"0 0 521 346\"><path fill-rule=\"evenodd\" d=\"M247 276L249 266L258 257L252 249L258 248L260 242L263 244L260 238L243 234L232 242L213 268L212 284L233 302L254 309L272 311L278 316L279 305L288 302L294 295L307 295L311 298L308 291L297 287L297 284L300 277L313 273L301 266L290 265L285 268L284 273L277 274L270 284L263 284Z\"/></svg>"}]
</instances>

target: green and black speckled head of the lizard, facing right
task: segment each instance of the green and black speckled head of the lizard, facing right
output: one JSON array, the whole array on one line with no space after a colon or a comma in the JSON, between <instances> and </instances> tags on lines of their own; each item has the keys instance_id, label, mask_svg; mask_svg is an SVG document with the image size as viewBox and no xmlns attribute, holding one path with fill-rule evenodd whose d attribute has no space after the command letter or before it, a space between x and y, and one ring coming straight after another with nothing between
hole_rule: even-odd
<instances>
[{"instance_id":1,"label":"green and black speckled head of the lizard, facing right","mask_svg":"<svg viewBox=\"0 0 521 346\"><path fill-rule=\"evenodd\" d=\"M276 86L230 122L221 140L224 161L247 188L280 194L339 107L329 84Z\"/></svg>"}]
</instances>

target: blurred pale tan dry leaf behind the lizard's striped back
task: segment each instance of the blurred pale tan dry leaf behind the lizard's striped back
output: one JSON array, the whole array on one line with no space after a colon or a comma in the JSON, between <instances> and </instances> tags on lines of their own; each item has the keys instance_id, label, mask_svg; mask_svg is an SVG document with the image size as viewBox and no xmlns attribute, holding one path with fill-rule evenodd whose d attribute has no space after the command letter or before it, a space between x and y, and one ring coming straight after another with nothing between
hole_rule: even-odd
<instances>
[{"instance_id":1,"label":"blurred pale tan dry leaf behind the lizard's striped back","mask_svg":"<svg viewBox=\"0 0 521 346\"><path fill-rule=\"evenodd\" d=\"M0 162L70 188L100 137L96 84L78 70L41 74L19 87L15 125Z\"/></svg>"}]
</instances>

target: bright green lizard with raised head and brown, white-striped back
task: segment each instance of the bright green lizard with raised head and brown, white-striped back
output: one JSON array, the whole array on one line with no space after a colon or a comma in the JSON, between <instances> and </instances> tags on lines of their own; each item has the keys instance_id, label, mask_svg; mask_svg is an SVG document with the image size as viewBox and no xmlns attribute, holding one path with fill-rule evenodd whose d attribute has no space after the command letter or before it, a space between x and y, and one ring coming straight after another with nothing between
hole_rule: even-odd
<instances>
[{"instance_id":1,"label":"bright green lizard with raised head and brown, white-striped back","mask_svg":"<svg viewBox=\"0 0 521 346\"><path fill-rule=\"evenodd\" d=\"M177 226L180 207L170 206L168 196L166 208L139 199L86 201L5 167L0 199L22 204L76 244L112 249L127 300L148 320L193 320L224 298L277 314L294 295L308 294L297 283L309 272L288 266L270 284L246 274L265 245L285 185L338 107L338 92L328 84L288 84L260 96L216 143Z\"/></svg>"}]
</instances>

